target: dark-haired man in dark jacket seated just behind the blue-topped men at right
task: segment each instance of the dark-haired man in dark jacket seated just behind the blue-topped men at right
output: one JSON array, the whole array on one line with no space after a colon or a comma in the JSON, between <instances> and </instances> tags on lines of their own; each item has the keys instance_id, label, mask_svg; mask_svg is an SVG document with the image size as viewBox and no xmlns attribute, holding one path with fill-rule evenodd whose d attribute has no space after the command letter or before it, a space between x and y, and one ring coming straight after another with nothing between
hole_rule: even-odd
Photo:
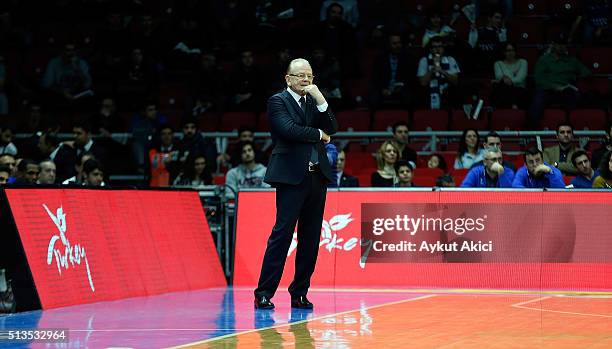
<instances>
[{"instance_id":1,"label":"dark-haired man in dark jacket seated just behind the blue-topped men at right","mask_svg":"<svg viewBox=\"0 0 612 349\"><path fill-rule=\"evenodd\" d=\"M542 152L544 154L544 162L552 164L564 175L575 175L578 173L572 164L572 155L580 148L574 142L574 128L567 123L561 123L557 126L557 140L559 145L547 147Z\"/></svg>"}]
</instances>

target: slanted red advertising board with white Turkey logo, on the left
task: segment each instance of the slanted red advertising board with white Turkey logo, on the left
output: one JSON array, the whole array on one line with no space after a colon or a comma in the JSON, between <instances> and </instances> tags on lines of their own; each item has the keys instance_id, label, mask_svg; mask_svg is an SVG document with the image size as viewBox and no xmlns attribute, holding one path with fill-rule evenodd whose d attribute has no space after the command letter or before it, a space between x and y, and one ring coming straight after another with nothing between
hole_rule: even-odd
<instances>
[{"instance_id":1,"label":"slanted red advertising board with white Turkey logo, on the left","mask_svg":"<svg viewBox=\"0 0 612 349\"><path fill-rule=\"evenodd\" d=\"M44 309L226 284L195 192L5 192Z\"/></svg>"}]
</instances>

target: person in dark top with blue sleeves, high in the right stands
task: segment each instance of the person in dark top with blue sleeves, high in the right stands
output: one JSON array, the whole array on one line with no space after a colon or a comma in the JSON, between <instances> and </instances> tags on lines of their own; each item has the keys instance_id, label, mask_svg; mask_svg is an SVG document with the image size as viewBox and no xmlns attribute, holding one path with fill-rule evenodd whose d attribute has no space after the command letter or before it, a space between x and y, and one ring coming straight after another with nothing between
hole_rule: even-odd
<instances>
[{"instance_id":1,"label":"person in dark top with blue sleeves, high in the right stands","mask_svg":"<svg viewBox=\"0 0 612 349\"><path fill-rule=\"evenodd\" d=\"M499 10L492 10L487 14L487 24L477 30L470 31L468 42L475 49L475 73L489 76L490 67L501 51L502 45L507 41L507 31L503 25L503 15Z\"/></svg>"}]
</instances>

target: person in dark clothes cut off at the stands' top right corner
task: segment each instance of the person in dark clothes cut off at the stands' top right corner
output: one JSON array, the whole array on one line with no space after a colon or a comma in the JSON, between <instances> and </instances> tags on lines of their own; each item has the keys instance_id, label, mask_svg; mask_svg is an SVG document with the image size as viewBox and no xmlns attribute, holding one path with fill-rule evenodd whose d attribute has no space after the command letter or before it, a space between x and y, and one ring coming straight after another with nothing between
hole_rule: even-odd
<instances>
[{"instance_id":1,"label":"person in dark clothes cut off at the stands' top right corner","mask_svg":"<svg viewBox=\"0 0 612 349\"><path fill-rule=\"evenodd\" d=\"M582 14L576 18L570 31L570 40L582 24L584 44L609 44L612 40L612 3L609 0L584 0Z\"/></svg>"}]
</instances>

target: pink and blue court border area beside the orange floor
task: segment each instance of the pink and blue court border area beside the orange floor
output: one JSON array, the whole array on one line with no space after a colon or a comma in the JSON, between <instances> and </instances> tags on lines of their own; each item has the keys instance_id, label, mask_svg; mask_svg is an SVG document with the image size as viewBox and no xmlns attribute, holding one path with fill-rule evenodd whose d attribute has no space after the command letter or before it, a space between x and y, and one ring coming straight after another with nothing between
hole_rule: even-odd
<instances>
[{"instance_id":1,"label":"pink and blue court border area beside the orange floor","mask_svg":"<svg viewBox=\"0 0 612 349\"><path fill-rule=\"evenodd\" d=\"M208 289L0 316L0 329L67 328L68 343L9 343L0 348L168 348L248 333L422 296L411 292L313 290L313 311L291 309L280 290L274 311L253 308L252 289Z\"/></svg>"}]
</instances>

